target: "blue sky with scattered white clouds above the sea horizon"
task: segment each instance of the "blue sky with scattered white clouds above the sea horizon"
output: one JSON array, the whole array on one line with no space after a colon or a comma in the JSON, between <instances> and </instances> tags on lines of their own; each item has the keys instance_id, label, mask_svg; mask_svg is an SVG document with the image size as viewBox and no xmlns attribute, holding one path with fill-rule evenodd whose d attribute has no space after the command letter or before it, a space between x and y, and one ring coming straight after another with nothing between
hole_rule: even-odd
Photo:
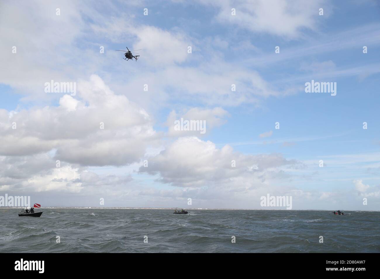
<instances>
[{"instance_id":1,"label":"blue sky with scattered white clouds above the sea horizon","mask_svg":"<svg viewBox=\"0 0 380 279\"><path fill-rule=\"evenodd\" d=\"M5 0L0 38L0 195L380 210L378 1Z\"/></svg>"}]
</instances>

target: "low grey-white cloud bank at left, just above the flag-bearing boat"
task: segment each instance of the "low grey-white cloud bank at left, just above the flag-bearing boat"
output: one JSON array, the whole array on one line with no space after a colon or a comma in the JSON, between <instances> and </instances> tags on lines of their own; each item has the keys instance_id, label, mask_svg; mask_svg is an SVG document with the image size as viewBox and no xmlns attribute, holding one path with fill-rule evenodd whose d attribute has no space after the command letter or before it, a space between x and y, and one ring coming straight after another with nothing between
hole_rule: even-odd
<instances>
[{"instance_id":1,"label":"low grey-white cloud bank at left, just above the flag-bearing boat","mask_svg":"<svg viewBox=\"0 0 380 279\"><path fill-rule=\"evenodd\" d=\"M131 175L98 175L87 167L59 162L47 153L0 156L0 191L107 193L120 192Z\"/></svg>"}]
</instances>

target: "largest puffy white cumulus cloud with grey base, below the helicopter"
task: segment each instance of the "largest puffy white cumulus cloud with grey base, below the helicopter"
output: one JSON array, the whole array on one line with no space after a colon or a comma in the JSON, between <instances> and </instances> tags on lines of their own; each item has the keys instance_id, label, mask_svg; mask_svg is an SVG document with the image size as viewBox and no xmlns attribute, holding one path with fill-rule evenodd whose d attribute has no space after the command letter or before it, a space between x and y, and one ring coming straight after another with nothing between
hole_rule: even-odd
<instances>
[{"instance_id":1,"label":"largest puffy white cumulus cloud with grey base, below the helicopter","mask_svg":"<svg viewBox=\"0 0 380 279\"><path fill-rule=\"evenodd\" d=\"M55 159L73 164L121 166L138 162L158 142L147 112L114 94L99 76L79 82L77 96L64 95L59 104L12 115L0 110L0 155L54 149Z\"/></svg>"}]
</instances>

